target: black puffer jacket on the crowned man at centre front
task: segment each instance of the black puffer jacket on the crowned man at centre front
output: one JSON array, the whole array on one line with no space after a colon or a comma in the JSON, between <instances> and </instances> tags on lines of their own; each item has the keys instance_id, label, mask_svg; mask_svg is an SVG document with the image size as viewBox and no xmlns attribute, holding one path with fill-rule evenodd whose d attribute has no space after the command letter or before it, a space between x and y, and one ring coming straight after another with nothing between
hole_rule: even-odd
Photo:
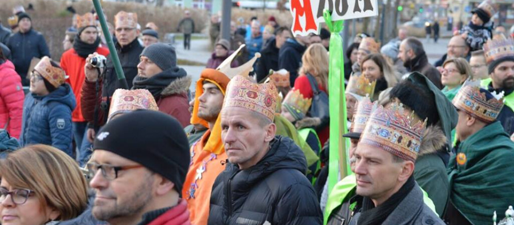
<instances>
[{"instance_id":1,"label":"black puffer jacket on the crowned man at centre front","mask_svg":"<svg viewBox=\"0 0 514 225\"><path fill-rule=\"evenodd\" d=\"M255 166L240 170L227 163L212 188L208 224L322 224L306 171L305 156L295 142L275 137Z\"/></svg>"}]
</instances>

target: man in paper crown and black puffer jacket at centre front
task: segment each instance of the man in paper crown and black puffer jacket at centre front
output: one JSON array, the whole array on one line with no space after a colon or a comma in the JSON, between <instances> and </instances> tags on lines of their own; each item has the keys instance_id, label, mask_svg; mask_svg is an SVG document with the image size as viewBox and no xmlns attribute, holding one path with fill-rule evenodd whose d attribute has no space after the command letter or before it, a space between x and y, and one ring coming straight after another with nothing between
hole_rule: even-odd
<instances>
[{"instance_id":1,"label":"man in paper crown and black puffer jacket at centre front","mask_svg":"<svg viewBox=\"0 0 514 225\"><path fill-rule=\"evenodd\" d=\"M221 112L228 162L214 182L209 224L322 224L304 154L275 136L276 91L243 76L230 81Z\"/></svg>"}]
</instances>

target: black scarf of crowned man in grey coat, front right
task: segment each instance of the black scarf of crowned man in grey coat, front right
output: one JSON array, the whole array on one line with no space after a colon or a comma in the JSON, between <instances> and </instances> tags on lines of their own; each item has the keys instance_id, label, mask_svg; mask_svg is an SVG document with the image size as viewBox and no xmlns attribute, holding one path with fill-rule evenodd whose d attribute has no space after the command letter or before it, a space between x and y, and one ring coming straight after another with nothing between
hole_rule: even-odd
<instances>
[{"instance_id":1,"label":"black scarf of crowned man in grey coat, front right","mask_svg":"<svg viewBox=\"0 0 514 225\"><path fill-rule=\"evenodd\" d=\"M362 199L362 212L360 214L359 220L357 221L358 225L366 224L366 225L379 225L382 224L384 220L398 207L398 204L405 198L414 188L416 182L414 181L414 176L409 177L407 182L398 190L398 192L394 193L389 199L384 201L378 207L375 207L375 204L369 197L364 197Z\"/></svg>"}]
</instances>

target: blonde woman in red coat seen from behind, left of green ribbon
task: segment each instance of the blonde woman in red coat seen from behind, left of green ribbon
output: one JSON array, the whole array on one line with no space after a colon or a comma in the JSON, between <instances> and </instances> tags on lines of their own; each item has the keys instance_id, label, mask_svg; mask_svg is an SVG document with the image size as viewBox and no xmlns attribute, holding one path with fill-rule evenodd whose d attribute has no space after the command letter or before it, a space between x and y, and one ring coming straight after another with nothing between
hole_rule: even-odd
<instances>
[{"instance_id":1,"label":"blonde woman in red coat seen from behind, left of green ribbon","mask_svg":"<svg viewBox=\"0 0 514 225\"><path fill-rule=\"evenodd\" d=\"M311 81L316 82L318 89L328 94L328 52L322 44L310 45L302 56L302 67L298 71L300 76L295 80L294 89L299 90L305 98L313 98L314 91ZM315 87L316 87L315 86ZM328 106L327 106L328 107ZM328 125L321 124L320 118L306 117L297 121L297 128L315 127L321 145L328 139Z\"/></svg>"}]
</instances>

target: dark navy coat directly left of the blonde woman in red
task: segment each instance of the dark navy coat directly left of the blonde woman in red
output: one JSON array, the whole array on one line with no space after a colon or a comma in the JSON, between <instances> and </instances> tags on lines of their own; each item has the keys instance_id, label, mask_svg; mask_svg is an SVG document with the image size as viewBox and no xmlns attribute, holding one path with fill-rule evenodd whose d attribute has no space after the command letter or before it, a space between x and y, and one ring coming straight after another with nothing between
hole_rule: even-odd
<instances>
[{"instance_id":1,"label":"dark navy coat directly left of the blonde woman in red","mask_svg":"<svg viewBox=\"0 0 514 225\"><path fill-rule=\"evenodd\" d=\"M302 66L302 55L307 48L300 45L295 39L288 38L279 51L279 69L289 72L291 87L295 87L298 70Z\"/></svg>"}]
</instances>

